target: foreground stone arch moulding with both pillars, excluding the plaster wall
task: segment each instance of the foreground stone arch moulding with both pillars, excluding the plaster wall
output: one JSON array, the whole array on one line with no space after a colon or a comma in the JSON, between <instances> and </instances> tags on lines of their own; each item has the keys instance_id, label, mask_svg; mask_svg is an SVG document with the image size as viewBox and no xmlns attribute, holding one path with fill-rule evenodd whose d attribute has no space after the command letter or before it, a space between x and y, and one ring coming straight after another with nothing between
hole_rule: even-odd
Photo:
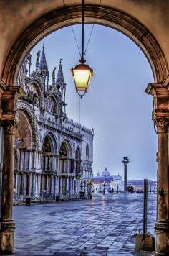
<instances>
[{"instance_id":1,"label":"foreground stone arch moulding with both pillars, excluding the plaster wall","mask_svg":"<svg viewBox=\"0 0 169 256\"><path fill-rule=\"evenodd\" d=\"M146 92L153 95L155 108L153 119L158 127L158 221L155 226L157 232L157 252L163 255L168 253L169 247L169 216L168 216L168 123L169 123L169 93L168 93L168 63L163 50L153 34L137 19L120 9L96 4L87 5L85 11L87 23L95 20L96 24L102 24L115 28L130 37L145 52L153 70L156 83L151 83ZM1 219L1 251L14 251L14 222L11 221L11 208L13 196L13 150L12 135L15 119L15 101L19 94L23 93L16 84L16 76L19 66L29 50L45 35L66 27L70 24L81 22L81 6L69 6L54 9L32 23L14 42L9 50L9 55L4 62L1 86L3 114L1 121L4 126L4 165L2 184L2 219ZM10 85L10 86L9 86ZM12 113L12 114L11 114ZM8 189L6 189L8 187ZM10 225L10 230L9 230ZM8 238L6 238L8 232ZM163 241L163 242L160 242ZM164 242L165 241L165 242Z\"/></svg>"}]
</instances>

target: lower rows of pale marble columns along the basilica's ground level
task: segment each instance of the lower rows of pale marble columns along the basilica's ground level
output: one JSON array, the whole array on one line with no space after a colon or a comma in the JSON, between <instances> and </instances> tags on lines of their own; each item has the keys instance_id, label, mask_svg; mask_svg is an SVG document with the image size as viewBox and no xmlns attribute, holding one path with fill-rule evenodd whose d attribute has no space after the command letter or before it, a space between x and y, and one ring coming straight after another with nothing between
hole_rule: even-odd
<instances>
[{"instance_id":1,"label":"lower rows of pale marble columns along the basilica's ground level","mask_svg":"<svg viewBox=\"0 0 169 256\"><path fill-rule=\"evenodd\" d=\"M49 133L50 134L50 133ZM85 179L91 173L81 173L80 151L75 158L68 155L62 142L59 154L52 151L50 137L45 137L42 151L14 147L14 200L31 196L42 200L52 196L69 196L87 192ZM24 145L25 146L25 145ZM91 166L90 166L91 167Z\"/></svg>"}]
</instances>

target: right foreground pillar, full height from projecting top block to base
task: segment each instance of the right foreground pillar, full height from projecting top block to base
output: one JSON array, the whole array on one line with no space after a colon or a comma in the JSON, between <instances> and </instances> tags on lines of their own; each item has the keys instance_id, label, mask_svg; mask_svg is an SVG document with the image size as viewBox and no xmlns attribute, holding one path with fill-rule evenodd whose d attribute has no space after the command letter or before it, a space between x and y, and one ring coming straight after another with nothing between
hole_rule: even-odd
<instances>
[{"instance_id":1,"label":"right foreground pillar, full height from projecting top block to base","mask_svg":"<svg viewBox=\"0 0 169 256\"><path fill-rule=\"evenodd\" d=\"M169 90L163 83L150 83L146 92L153 95L154 98L153 120L158 133L158 206L155 223L156 255L169 255Z\"/></svg>"}]
</instances>

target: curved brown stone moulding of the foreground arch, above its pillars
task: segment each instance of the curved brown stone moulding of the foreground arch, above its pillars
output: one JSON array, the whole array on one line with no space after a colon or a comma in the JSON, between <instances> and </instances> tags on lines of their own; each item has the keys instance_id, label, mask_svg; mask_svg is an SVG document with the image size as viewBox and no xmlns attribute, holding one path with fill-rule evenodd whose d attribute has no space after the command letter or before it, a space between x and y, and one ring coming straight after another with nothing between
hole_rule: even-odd
<instances>
[{"instance_id":1,"label":"curved brown stone moulding of the foreground arch, above its pillars","mask_svg":"<svg viewBox=\"0 0 169 256\"><path fill-rule=\"evenodd\" d=\"M43 37L57 29L81 23L81 19L82 6L69 6L49 12L49 14L34 22L19 37L9 52L3 70L2 78L4 81L10 85L16 84L19 67L32 47ZM117 29L130 37L148 58L155 82L162 82L168 76L168 64L158 41L134 17L106 6L87 5L85 7L85 22L102 24Z\"/></svg>"}]
</instances>

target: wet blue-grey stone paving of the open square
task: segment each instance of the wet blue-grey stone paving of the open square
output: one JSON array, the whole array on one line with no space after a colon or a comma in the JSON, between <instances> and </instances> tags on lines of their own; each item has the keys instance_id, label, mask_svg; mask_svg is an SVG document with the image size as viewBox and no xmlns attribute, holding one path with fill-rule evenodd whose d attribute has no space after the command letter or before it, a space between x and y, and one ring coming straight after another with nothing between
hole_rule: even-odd
<instances>
[{"instance_id":1,"label":"wet blue-grey stone paving of the open square","mask_svg":"<svg viewBox=\"0 0 169 256\"><path fill-rule=\"evenodd\" d=\"M156 195L148 195L148 232L155 234ZM143 194L95 193L92 200L14 206L15 255L153 255L135 253Z\"/></svg>"}]
</instances>

